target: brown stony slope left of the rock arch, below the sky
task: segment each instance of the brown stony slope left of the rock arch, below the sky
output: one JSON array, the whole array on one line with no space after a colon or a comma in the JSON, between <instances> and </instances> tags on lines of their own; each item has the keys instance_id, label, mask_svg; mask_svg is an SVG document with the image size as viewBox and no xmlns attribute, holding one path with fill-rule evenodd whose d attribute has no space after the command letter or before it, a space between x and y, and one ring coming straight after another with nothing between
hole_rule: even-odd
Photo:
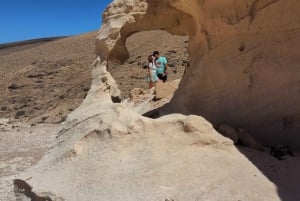
<instances>
[{"instance_id":1,"label":"brown stony slope left of the rock arch, below the sky","mask_svg":"<svg viewBox=\"0 0 300 201\"><path fill-rule=\"evenodd\" d=\"M62 122L90 88L96 33L0 49L0 116Z\"/></svg>"}]
</instances>

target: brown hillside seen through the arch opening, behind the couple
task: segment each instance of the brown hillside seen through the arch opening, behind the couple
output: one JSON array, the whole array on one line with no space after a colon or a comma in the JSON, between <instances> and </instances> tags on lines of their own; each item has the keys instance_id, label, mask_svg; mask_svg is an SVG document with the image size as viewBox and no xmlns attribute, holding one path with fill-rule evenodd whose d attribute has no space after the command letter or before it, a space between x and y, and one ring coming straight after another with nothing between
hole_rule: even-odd
<instances>
[{"instance_id":1,"label":"brown hillside seen through the arch opening, behind the couple","mask_svg":"<svg viewBox=\"0 0 300 201\"><path fill-rule=\"evenodd\" d=\"M163 30L138 32L126 39L126 48L129 58L124 64L108 62L108 70L121 90L122 99L130 97L133 89L148 90L147 57L153 51L158 50L168 59L168 82L180 82L189 65L187 36L175 36Z\"/></svg>"}]
</instances>

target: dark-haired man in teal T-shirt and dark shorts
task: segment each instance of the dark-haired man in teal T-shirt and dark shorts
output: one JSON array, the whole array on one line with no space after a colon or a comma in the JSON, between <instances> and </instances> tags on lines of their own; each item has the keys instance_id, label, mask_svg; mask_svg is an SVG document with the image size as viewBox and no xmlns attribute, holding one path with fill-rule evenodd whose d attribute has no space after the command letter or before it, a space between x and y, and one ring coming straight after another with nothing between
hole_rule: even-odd
<instances>
[{"instance_id":1,"label":"dark-haired man in teal T-shirt and dark shorts","mask_svg":"<svg viewBox=\"0 0 300 201\"><path fill-rule=\"evenodd\" d=\"M167 68L169 67L168 60L166 57L159 56L158 51L154 51L153 56L155 57L155 64L157 67L156 69L157 77L163 82L166 82L168 79L167 76Z\"/></svg>"}]
</instances>

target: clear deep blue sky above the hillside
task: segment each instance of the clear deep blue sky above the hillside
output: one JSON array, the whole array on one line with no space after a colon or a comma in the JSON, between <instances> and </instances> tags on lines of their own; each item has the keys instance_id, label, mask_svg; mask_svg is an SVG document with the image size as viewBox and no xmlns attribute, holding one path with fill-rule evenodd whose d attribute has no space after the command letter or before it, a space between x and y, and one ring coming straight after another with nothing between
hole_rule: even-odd
<instances>
[{"instance_id":1,"label":"clear deep blue sky above the hillside","mask_svg":"<svg viewBox=\"0 0 300 201\"><path fill-rule=\"evenodd\" d=\"M0 0L0 44L97 30L112 0Z\"/></svg>"}]
</instances>

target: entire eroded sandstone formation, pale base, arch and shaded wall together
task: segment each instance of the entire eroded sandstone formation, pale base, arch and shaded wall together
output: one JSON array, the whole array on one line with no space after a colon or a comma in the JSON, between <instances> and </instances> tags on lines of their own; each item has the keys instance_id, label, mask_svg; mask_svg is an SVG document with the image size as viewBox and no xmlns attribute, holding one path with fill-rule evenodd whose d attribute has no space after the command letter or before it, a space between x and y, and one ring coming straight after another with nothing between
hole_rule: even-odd
<instances>
[{"instance_id":1,"label":"entire eroded sandstone formation, pale base, arch and shaded wall together","mask_svg":"<svg viewBox=\"0 0 300 201\"><path fill-rule=\"evenodd\" d=\"M293 107L299 6L296 0L116 0L103 15L91 89L68 116L57 146L14 181L17 200L280 200L276 186L202 117L153 120L113 103L119 90L106 65L126 60L126 37L137 31L186 34L191 68L163 112L202 114L250 133L259 127L258 137L274 143L281 115L288 116L286 135L299 125Z\"/></svg>"}]
</instances>

